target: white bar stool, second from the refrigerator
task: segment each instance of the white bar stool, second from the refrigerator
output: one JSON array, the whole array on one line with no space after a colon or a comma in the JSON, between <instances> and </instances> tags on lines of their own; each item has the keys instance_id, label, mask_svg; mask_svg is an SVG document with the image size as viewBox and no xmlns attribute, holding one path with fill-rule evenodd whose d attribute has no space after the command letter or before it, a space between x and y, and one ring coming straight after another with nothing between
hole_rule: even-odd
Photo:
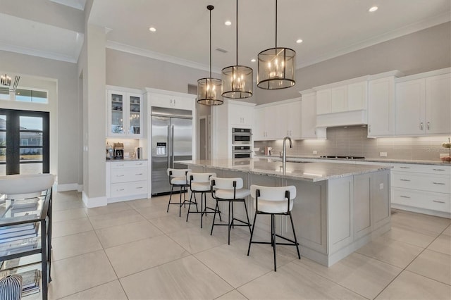
<instances>
[{"instance_id":1,"label":"white bar stool, second from the refrigerator","mask_svg":"<svg viewBox=\"0 0 451 300\"><path fill-rule=\"evenodd\" d=\"M216 209L206 206L206 192L211 191L210 177L216 177L216 173L187 173L187 178L190 182L191 196L190 205L188 206L188 213L186 215L186 221L190 213L200 213L200 227L202 228L202 218L206 213L215 213ZM196 193L200 194L200 211L197 209L197 199ZM194 195L194 201L192 201L192 196ZM191 204L196 204L196 211L190 211ZM210 210L210 211L208 211ZM221 219L221 212L219 213L219 218Z\"/></svg>"}]
</instances>

